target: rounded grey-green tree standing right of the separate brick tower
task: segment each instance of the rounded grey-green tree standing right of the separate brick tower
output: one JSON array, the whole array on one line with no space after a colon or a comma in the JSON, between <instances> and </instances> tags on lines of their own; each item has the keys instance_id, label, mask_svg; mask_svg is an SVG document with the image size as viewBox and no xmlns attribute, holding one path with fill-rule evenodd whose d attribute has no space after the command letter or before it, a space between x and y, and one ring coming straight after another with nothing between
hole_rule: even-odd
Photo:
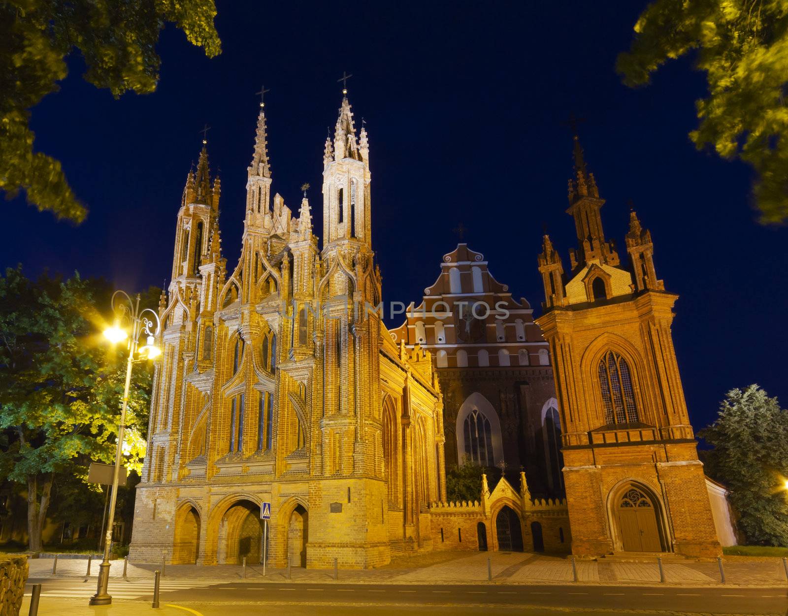
<instances>
[{"instance_id":1,"label":"rounded grey-green tree standing right of the separate brick tower","mask_svg":"<svg viewBox=\"0 0 788 616\"><path fill-rule=\"evenodd\" d=\"M788 545L788 411L755 384L732 389L699 436L714 447L706 472L728 488L747 541Z\"/></svg>"}]
</instances>

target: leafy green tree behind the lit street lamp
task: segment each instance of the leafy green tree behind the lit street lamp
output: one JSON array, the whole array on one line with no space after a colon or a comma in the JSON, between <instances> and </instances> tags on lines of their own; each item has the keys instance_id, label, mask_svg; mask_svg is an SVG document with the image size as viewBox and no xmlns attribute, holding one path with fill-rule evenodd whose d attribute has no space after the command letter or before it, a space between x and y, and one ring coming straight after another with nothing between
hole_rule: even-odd
<instances>
[{"instance_id":1,"label":"leafy green tree behind the lit street lamp","mask_svg":"<svg viewBox=\"0 0 788 616\"><path fill-rule=\"evenodd\" d=\"M0 451L3 477L27 487L28 536L41 549L41 532L55 477L84 474L91 459L113 463L125 380L125 353L108 350L95 324L95 287L21 268L0 278ZM125 438L126 465L139 469L145 453L151 374L134 371Z\"/></svg>"}]
</instances>

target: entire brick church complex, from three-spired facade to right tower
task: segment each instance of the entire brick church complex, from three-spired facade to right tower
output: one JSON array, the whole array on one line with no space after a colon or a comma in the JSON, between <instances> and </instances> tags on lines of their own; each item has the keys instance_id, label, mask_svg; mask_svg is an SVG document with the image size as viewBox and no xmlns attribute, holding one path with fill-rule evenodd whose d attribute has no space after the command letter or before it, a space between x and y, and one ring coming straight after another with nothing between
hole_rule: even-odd
<instances>
[{"instance_id":1,"label":"entire brick church complex, from three-spired facade to right tower","mask_svg":"<svg viewBox=\"0 0 788 616\"><path fill-rule=\"evenodd\" d=\"M322 244L306 192L297 215L271 194L261 102L227 269L203 139L159 306L129 557L368 568L430 549L717 555L671 340L676 295L634 213L620 264L577 139L578 249L564 273L545 236L541 317L460 243L389 331L369 135L343 94ZM450 503L446 468L463 463L487 469L481 490Z\"/></svg>"}]
</instances>

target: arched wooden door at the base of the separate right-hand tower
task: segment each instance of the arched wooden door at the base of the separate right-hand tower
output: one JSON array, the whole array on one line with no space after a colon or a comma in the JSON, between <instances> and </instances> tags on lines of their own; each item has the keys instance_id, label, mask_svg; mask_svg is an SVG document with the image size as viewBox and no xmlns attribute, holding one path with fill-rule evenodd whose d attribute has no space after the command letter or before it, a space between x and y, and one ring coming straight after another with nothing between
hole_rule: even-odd
<instances>
[{"instance_id":1,"label":"arched wooden door at the base of the separate right-hand tower","mask_svg":"<svg viewBox=\"0 0 788 616\"><path fill-rule=\"evenodd\" d=\"M630 485L619 493L612 505L624 551L663 551L658 503L648 491L637 485Z\"/></svg>"}]
</instances>

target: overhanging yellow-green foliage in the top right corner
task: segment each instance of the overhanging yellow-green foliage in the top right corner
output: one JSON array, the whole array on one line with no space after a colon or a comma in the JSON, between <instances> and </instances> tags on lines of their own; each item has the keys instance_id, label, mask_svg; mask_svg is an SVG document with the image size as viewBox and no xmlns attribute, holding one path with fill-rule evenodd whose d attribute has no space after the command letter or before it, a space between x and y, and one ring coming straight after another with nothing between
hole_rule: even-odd
<instances>
[{"instance_id":1,"label":"overhanging yellow-green foliage in the top right corner","mask_svg":"<svg viewBox=\"0 0 788 616\"><path fill-rule=\"evenodd\" d=\"M649 83L670 59L693 53L708 97L697 101L699 149L752 165L763 222L788 217L788 0L656 0L634 27L617 70L630 86Z\"/></svg>"}]
</instances>

